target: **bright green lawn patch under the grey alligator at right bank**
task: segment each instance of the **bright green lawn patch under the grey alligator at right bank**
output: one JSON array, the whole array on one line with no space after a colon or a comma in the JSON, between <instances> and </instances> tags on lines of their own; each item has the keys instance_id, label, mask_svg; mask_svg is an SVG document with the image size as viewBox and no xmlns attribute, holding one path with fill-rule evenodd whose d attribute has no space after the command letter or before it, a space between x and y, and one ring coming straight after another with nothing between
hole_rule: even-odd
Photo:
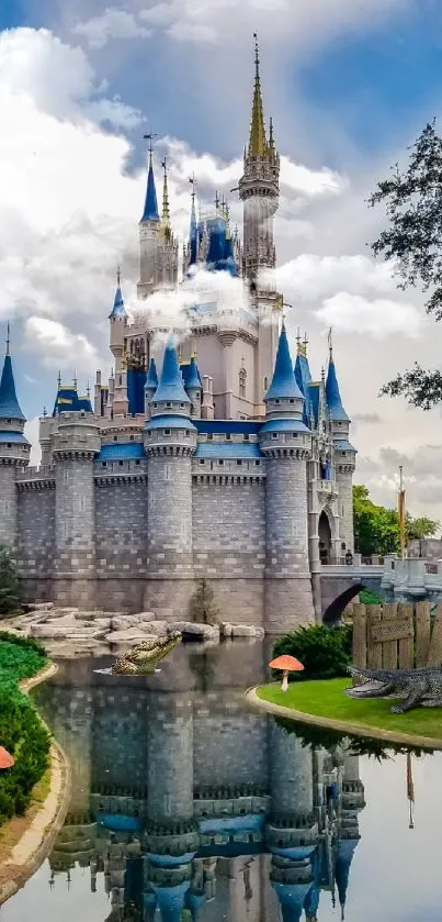
<instances>
[{"instance_id":1,"label":"bright green lawn patch under the grey alligator at right bank","mask_svg":"<svg viewBox=\"0 0 442 922\"><path fill-rule=\"evenodd\" d=\"M394 701L375 698L355 701L349 698L343 689L350 684L350 679L292 682L286 692L281 691L277 685L265 685L257 689L257 695L294 711L347 721L354 726L442 740L442 708L419 708L406 714L392 714L389 709Z\"/></svg>"}]
</instances>

